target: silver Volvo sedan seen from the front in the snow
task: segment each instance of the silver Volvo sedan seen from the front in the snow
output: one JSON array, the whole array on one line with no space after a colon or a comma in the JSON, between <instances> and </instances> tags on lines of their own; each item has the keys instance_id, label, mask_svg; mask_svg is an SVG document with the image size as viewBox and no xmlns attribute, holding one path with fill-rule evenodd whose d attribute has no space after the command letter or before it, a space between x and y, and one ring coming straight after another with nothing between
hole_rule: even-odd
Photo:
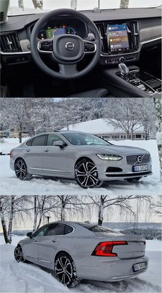
<instances>
[{"instance_id":1,"label":"silver Volvo sedan seen from the front in the snow","mask_svg":"<svg viewBox=\"0 0 162 293\"><path fill-rule=\"evenodd\" d=\"M152 174L147 150L68 130L38 134L12 149L10 168L21 180L31 179L32 174L62 177L76 179L82 188L117 179L138 181Z\"/></svg>"}]
</instances>

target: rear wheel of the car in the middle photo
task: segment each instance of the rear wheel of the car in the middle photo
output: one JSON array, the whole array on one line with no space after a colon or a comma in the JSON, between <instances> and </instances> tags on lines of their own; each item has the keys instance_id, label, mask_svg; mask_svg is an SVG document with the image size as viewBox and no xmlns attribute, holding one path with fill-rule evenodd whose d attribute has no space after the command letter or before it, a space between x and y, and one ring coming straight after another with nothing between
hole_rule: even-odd
<instances>
[{"instance_id":1,"label":"rear wheel of the car in the middle photo","mask_svg":"<svg viewBox=\"0 0 162 293\"><path fill-rule=\"evenodd\" d=\"M17 159L14 163L14 171L16 174L16 177L19 178L22 181L27 181L32 179L32 174L29 174L27 172L27 165L23 159Z\"/></svg>"}]
</instances>

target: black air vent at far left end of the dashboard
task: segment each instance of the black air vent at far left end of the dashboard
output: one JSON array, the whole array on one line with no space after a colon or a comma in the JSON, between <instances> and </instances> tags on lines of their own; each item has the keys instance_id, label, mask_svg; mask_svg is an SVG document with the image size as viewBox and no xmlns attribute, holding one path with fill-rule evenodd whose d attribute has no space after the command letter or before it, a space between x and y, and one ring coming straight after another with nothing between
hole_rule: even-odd
<instances>
[{"instance_id":1,"label":"black air vent at far left end of the dashboard","mask_svg":"<svg viewBox=\"0 0 162 293\"><path fill-rule=\"evenodd\" d=\"M18 35L16 32L1 34L1 52L22 52Z\"/></svg>"}]
</instances>

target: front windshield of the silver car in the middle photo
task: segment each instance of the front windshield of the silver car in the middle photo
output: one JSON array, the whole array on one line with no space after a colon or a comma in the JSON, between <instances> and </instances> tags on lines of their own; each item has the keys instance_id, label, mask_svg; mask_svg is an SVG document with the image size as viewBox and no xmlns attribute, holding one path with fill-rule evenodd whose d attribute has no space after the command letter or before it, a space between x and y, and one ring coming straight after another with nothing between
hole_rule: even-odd
<instances>
[{"instance_id":1,"label":"front windshield of the silver car in the middle photo","mask_svg":"<svg viewBox=\"0 0 162 293\"><path fill-rule=\"evenodd\" d=\"M86 133L66 133L63 136L71 143L71 145L111 145L108 141L100 139L93 134Z\"/></svg>"}]
</instances>

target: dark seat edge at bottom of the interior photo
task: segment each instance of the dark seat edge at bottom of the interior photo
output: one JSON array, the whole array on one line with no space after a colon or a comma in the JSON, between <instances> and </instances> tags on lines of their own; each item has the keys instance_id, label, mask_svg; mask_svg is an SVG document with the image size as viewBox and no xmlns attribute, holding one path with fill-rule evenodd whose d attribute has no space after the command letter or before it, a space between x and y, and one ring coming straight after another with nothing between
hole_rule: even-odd
<instances>
[{"instance_id":1,"label":"dark seat edge at bottom of the interior photo","mask_svg":"<svg viewBox=\"0 0 162 293\"><path fill-rule=\"evenodd\" d=\"M88 90L86 92L78 92L77 94L71 94L70 98L100 98L110 97L108 90L105 88L96 88L95 90ZM111 96L112 97L112 96Z\"/></svg>"}]
</instances>

